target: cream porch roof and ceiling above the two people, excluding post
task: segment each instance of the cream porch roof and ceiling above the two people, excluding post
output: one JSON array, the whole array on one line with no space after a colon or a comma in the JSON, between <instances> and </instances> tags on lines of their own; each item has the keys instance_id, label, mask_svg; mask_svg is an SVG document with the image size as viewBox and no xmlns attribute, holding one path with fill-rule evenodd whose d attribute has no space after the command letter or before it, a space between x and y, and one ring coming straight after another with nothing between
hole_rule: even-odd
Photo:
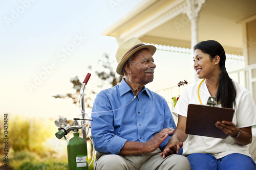
<instances>
[{"instance_id":1,"label":"cream porch roof and ceiling above the two people, excluding post","mask_svg":"<svg viewBox=\"0 0 256 170\"><path fill-rule=\"evenodd\" d=\"M256 18L255 8L254 0L206 0L199 12L198 40L214 39L226 53L243 55L246 40L242 23ZM186 12L185 0L144 0L102 34L116 37L118 43L135 36L148 43L190 48Z\"/></svg>"}]
</instances>

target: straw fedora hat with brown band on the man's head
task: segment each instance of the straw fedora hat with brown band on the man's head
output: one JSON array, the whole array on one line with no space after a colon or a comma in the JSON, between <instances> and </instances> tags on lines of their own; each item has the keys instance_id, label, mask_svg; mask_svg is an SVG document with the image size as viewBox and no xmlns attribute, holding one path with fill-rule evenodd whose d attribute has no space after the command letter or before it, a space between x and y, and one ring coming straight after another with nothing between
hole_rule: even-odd
<instances>
[{"instance_id":1,"label":"straw fedora hat with brown band on the man's head","mask_svg":"<svg viewBox=\"0 0 256 170\"><path fill-rule=\"evenodd\" d=\"M153 45L145 45L138 38L133 37L127 41L120 44L116 52L116 61L118 63L116 72L123 75L123 65L124 63L137 51L142 48L148 48L152 56L155 54L157 48Z\"/></svg>"}]
</instances>

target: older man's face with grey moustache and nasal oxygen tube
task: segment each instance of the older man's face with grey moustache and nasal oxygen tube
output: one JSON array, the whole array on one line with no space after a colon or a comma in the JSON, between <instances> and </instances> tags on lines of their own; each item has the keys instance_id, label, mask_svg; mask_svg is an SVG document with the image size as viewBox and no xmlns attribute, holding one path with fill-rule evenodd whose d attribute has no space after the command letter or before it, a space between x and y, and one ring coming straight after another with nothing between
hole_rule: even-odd
<instances>
[{"instance_id":1,"label":"older man's face with grey moustache and nasal oxygen tube","mask_svg":"<svg viewBox=\"0 0 256 170\"><path fill-rule=\"evenodd\" d=\"M147 48L142 48L133 55L132 61L134 62L131 63L131 76L134 83L145 85L152 82L156 64L150 51Z\"/></svg>"}]
</instances>

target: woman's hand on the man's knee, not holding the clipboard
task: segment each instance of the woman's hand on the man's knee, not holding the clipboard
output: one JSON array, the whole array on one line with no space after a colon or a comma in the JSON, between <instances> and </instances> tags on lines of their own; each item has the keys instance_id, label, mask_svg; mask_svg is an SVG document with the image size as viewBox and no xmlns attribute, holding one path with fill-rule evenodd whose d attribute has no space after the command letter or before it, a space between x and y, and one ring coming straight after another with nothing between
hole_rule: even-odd
<instances>
[{"instance_id":1,"label":"woman's hand on the man's knee, not holding the clipboard","mask_svg":"<svg viewBox=\"0 0 256 170\"><path fill-rule=\"evenodd\" d=\"M176 137L172 136L160 155L164 159L169 155L178 154L181 147L183 147L183 142L180 142Z\"/></svg>"}]
</instances>

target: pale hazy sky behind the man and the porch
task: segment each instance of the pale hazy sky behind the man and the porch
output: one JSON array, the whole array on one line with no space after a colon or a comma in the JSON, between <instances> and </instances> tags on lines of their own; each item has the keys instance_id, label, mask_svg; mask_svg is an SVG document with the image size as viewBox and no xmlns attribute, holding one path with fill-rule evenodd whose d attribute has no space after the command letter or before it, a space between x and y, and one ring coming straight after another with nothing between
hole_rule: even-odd
<instances>
[{"instance_id":1,"label":"pale hazy sky behind the man and the porch","mask_svg":"<svg viewBox=\"0 0 256 170\"><path fill-rule=\"evenodd\" d=\"M52 96L73 93L70 79L82 81L88 72L92 76L86 88L96 88L103 53L116 68L116 40L100 33L140 2L0 1L0 113L49 118L79 114L70 99ZM146 87L155 91L192 81L190 54L157 51L153 57L155 78Z\"/></svg>"}]
</instances>

